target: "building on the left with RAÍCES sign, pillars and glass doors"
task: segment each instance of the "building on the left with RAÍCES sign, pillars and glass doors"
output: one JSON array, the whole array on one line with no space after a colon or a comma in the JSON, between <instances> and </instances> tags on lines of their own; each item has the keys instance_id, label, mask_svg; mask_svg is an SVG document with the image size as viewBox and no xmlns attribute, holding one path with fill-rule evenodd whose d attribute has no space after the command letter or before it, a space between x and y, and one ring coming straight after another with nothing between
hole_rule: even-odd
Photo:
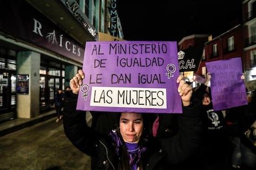
<instances>
[{"instance_id":1,"label":"building on the left with RA\u00cdCES sign, pillars and glass doors","mask_svg":"<svg viewBox=\"0 0 256 170\"><path fill-rule=\"evenodd\" d=\"M0 14L0 123L51 110L82 68L86 42L123 37L111 0L2 1Z\"/></svg>"}]
</instances>

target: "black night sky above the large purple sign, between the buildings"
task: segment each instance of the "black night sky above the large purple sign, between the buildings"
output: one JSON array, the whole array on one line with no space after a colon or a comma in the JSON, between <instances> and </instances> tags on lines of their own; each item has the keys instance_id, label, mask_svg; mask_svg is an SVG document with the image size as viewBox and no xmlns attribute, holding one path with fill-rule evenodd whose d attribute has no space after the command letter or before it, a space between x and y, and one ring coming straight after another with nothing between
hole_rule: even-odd
<instances>
[{"instance_id":1,"label":"black night sky above the large purple sign, between the buildings","mask_svg":"<svg viewBox=\"0 0 256 170\"><path fill-rule=\"evenodd\" d=\"M126 40L180 41L190 34L218 35L241 23L242 2L117 0L117 13Z\"/></svg>"}]
</instances>

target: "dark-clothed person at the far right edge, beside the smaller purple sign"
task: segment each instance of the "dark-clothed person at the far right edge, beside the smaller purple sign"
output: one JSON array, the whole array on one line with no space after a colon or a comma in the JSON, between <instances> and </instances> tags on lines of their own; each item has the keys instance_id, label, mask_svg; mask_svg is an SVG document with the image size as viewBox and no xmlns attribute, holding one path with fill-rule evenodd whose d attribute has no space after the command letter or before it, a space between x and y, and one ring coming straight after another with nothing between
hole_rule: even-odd
<instances>
[{"instance_id":1,"label":"dark-clothed person at the far right edge, beside the smaller purple sign","mask_svg":"<svg viewBox=\"0 0 256 170\"><path fill-rule=\"evenodd\" d=\"M248 140L247 136L247 132L254 126L253 119L256 118L254 105L251 92L247 91L247 105L226 110L226 131L233 144L231 153L233 169L251 170L256 168L256 147L252 140Z\"/></svg>"}]
</instances>

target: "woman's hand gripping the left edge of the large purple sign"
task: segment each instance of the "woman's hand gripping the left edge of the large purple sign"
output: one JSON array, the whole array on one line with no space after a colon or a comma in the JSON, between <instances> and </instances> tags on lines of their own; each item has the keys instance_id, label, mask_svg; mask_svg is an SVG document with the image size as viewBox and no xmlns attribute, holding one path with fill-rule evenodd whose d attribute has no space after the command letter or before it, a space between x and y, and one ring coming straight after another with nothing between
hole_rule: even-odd
<instances>
[{"instance_id":1,"label":"woman's hand gripping the left edge of the large purple sign","mask_svg":"<svg viewBox=\"0 0 256 170\"><path fill-rule=\"evenodd\" d=\"M69 81L70 88L74 94L79 94L79 87L83 84L85 75L83 70L79 70L78 73Z\"/></svg>"}]
</instances>

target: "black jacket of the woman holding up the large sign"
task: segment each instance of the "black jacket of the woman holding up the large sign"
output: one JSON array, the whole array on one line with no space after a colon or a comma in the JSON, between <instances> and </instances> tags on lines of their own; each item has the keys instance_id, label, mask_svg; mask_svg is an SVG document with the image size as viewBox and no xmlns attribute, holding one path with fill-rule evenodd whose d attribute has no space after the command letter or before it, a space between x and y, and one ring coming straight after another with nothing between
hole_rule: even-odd
<instances>
[{"instance_id":1,"label":"black jacket of the woman holding up the large sign","mask_svg":"<svg viewBox=\"0 0 256 170\"><path fill-rule=\"evenodd\" d=\"M65 100L64 131L72 144L83 153L96 158L95 169L117 169L119 158L113 140L87 126L85 111L77 111L76 97ZM200 145L202 124L199 118L200 105L183 107L183 113L177 116L179 131L168 139L151 137L143 147L143 169L170 169L171 164L182 163L189 158Z\"/></svg>"}]
</instances>

